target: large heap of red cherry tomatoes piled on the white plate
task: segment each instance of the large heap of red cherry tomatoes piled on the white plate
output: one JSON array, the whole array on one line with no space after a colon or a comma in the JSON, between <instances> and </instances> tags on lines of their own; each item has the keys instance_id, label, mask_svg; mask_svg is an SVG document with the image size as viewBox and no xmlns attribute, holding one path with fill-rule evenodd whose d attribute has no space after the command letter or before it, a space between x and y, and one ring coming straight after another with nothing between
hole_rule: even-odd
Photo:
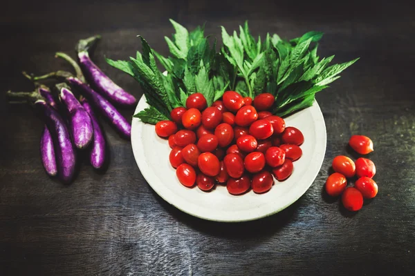
<instances>
[{"instance_id":1,"label":"large heap of red cherry tomatoes piled on the white plate","mask_svg":"<svg viewBox=\"0 0 415 276\"><path fill-rule=\"evenodd\" d=\"M287 179L293 161L302 156L304 136L268 111L274 101L270 93L252 101L226 91L222 101L207 107L205 97L194 93L186 108L172 110L172 121L159 121L156 134L168 137L169 161L181 184L196 184L203 191L225 184L230 194L241 195L250 188L266 193L274 184L273 175Z\"/></svg>"}]
</instances>

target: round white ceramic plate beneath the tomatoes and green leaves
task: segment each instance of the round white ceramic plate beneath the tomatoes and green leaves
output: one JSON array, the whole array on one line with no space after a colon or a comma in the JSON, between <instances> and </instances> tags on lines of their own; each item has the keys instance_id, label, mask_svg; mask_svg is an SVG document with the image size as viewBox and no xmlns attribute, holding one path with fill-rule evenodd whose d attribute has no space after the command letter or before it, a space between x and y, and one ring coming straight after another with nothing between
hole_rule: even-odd
<instances>
[{"instance_id":1,"label":"round white ceramic plate beneath the tomatoes and green leaves","mask_svg":"<svg viewBox=\"0 0 415 276\"><path fill-rule=\"evenodd\" d=\"M147 108L143 96L136 112ZM169 164L169 144L156 135L154 126L133 118L131 144L138 167L151 188L185 213L212 221L249 221L275 214L293 204L313 184L326 151L326 126L317 101L313 106L287 117L286 126L295 126L304 134L302 157L294 162L293 175L276 181L268 193L257 195L252 190L234 196L225 186L205 193L199 188L186 188Z\"/></svg>"}]
</instances>

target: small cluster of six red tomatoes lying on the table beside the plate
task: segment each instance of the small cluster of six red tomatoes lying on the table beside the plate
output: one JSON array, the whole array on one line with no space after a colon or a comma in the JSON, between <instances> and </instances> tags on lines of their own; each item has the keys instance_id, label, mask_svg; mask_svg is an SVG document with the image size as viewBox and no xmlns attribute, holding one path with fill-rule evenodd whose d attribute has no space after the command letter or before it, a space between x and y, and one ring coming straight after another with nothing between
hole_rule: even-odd
<instances>
[{"instance_id":1,"label":"small cluster of six red tomatoes lying on the table beside the plate","mask_svg":"<svg viewBox=\"0 0 415 276\"><path fill-rule=\"evenodd\" d=\"M360 155L367 155L374 151L374 144L369 137L353 135L349 145ZM376 166L373 161L360 157L353 161L347 156L339 155L333 159L332 175L327 178L326 192L332 197L342 195L344 208L351 211L360 210L363 199L371 199L378 194L378 184L372 179L376 174ZM355 177L354 187L347 187L347 179Z\"/></svg>"}]
</instances>

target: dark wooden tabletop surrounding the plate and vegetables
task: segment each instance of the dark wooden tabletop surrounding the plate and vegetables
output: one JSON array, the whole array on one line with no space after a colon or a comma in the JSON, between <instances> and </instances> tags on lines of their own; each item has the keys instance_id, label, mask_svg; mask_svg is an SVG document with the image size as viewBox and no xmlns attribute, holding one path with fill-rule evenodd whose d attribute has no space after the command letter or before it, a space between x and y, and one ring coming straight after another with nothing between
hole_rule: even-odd
<instances>
[{"instance_id":1,"label":"dark wooden tabletop surrounding the plate and vegetables","mask_svg":"<svg viewBox=\"0 0 415 276\"><path fill-rule=\"evenodd\" d=\"M413 8L392 1L9 1L0 10L0 275L413 275L415 95ZM326 158L311 188L277 215L241 224L196 219L169 206L143 179L131 144L107 124L105 174L82 165L64 186L39 159L42 122L5 91L31 90L21 70L69 69L78 39L102 34L93 55L137 97L138 83L103 56L127 59L141 34L167 54L168 19L207 21L284 38L325 33L320 57L361 57L320 92ZM133 110L124 110L131 116ZM358 213L322 193L335 155L353 134L374 140L378 196Z\"/></svg>"}]
</instances>

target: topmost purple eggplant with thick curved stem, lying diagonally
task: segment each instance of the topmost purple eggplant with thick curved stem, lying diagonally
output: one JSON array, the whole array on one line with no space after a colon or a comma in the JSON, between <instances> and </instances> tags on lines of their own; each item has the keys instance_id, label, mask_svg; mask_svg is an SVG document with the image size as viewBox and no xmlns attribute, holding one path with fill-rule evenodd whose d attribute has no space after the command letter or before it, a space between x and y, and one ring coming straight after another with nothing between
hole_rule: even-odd
<instances>
[{"instance_id":1,"label":"topmost purple eggplant with thick curved stem, lying diagonally","mask_svg":"<svg viewBox=\"0 0 415 276\"><path fill-rule=\"evenodd\" d=\"M81 39L77 43L76 51L84 74L92 86L113 103L121 106L135 105L137 99L111 81L111 79L109 79L109 77L107 77L107 75L91 61L88 51L98 39L100 39L100 36L89 37L88 39Z\"/></svg>"}]
</instances>

